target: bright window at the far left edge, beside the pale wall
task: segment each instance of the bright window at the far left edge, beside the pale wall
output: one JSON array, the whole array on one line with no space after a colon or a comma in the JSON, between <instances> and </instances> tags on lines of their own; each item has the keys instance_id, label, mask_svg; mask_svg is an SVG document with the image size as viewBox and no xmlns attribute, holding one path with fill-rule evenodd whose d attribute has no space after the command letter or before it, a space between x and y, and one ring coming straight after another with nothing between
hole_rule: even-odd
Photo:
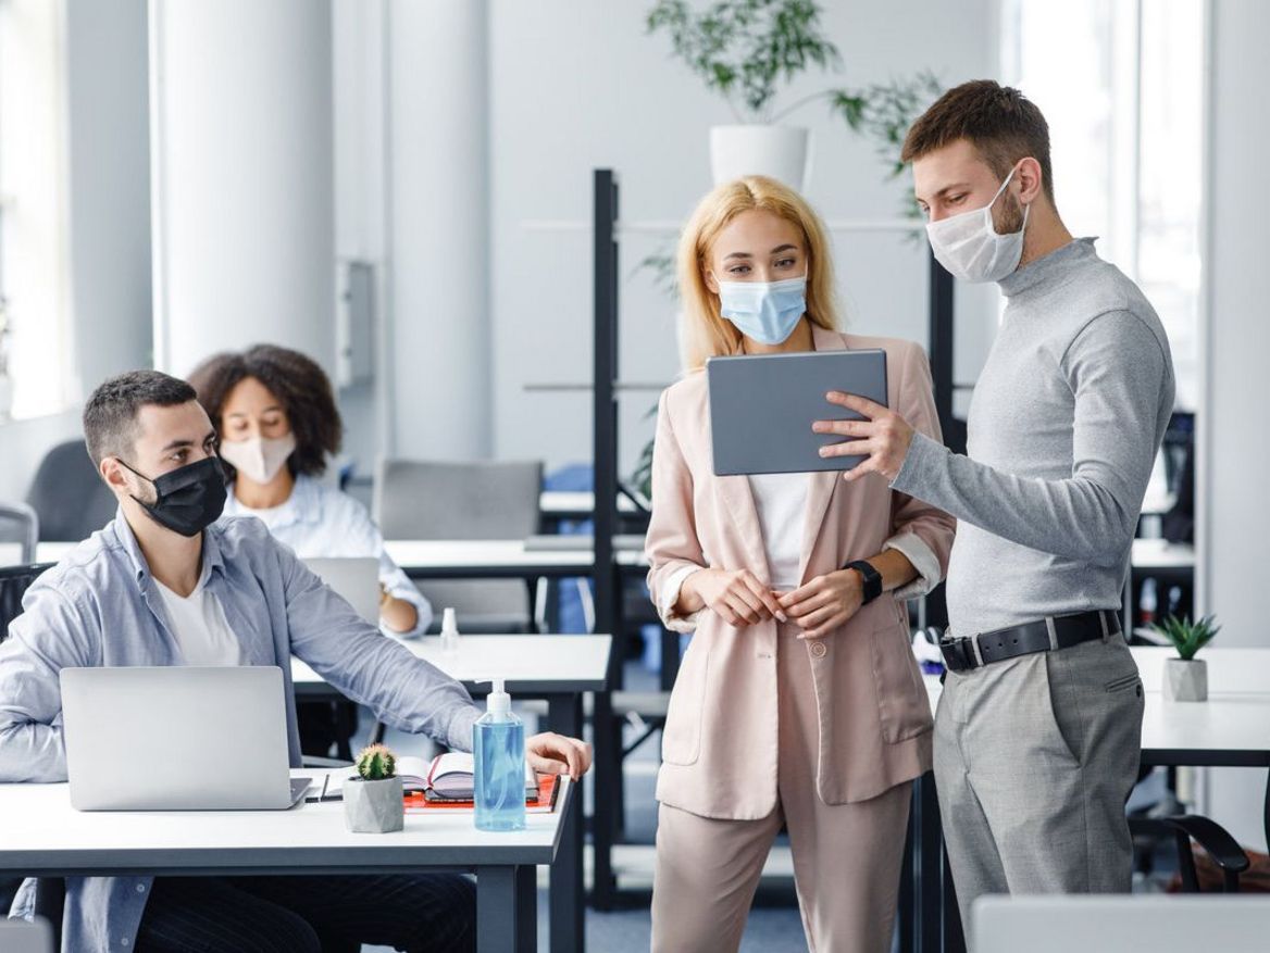
<instances>
[{"instance_id":1,"label":"bright window at the far left edge, beside the pale wall","mask_svg":"<svg viewBox=\"0 0 1270 953\"><path fill-rule=\"evenodd\" d=\"M0 0L0 420L71 392L62 3Z\"/></svg>"}]
</instances>

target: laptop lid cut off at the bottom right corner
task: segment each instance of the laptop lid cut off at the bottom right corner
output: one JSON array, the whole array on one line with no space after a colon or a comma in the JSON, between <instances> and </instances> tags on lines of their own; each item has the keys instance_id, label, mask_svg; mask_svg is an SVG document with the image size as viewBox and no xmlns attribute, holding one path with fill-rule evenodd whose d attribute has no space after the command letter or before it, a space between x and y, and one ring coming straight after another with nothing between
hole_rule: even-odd
<instances>
[{"instance_id":1,"label":"laptop lid cut off at the bottom right corner","mask_svg":"<svg viewBox=\"0 0 1270 953\"><path fill-rule=\"evenodd\" d=\"M1270 897L1102 895L983 897L975 953L1194 953L1266 947Z\"/></svg>"}]
</instances>

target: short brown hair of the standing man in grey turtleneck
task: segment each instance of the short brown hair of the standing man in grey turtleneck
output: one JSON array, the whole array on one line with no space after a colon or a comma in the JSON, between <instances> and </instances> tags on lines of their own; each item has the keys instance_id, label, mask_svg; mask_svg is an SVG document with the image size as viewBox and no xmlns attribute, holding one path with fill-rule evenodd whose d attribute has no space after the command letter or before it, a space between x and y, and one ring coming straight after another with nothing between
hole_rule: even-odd
<instances>
[{"instance_id":1,"label":"short brown hair of the standing man in grey turtleneck","mask_svg":"<svg viewBox=\"0 0 1270 953\"><path fill-rule=\"evenodd\" d=\"M1005 179L1019 160L1040 164L1041 185L1054 202L1049 164L1049 124L1027 96L993 80L954 86L922 113L904 137L900 161L912 162L958 140L974 146L988 168Z\"/></svg>"}]
</instances>

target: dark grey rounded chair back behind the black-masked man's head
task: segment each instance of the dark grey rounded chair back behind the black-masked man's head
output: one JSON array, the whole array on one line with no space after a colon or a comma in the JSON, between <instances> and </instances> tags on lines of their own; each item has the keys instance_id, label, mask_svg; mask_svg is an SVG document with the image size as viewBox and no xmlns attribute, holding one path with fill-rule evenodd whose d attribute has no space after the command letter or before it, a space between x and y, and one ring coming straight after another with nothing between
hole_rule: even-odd
<instances>
[{"instance_id":1,"label":"dark grey rounded chair back behind the black-masked man's head","mask_svg":"<svg viewBox=\"0 0 1270 953\"><path fill-rule=\"evenodd\" d=\"M44 454L27 503L39 514L41 542L88 539L114 519L118 509L83 440L60 443Z\"/></svg>"}]
</instances>

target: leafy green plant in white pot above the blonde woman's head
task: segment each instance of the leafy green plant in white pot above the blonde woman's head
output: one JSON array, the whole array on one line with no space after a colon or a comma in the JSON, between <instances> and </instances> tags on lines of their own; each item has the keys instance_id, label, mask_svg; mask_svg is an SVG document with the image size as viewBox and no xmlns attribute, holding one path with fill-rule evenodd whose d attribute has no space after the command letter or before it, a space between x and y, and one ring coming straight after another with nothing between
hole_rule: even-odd
<instances>
[{"instance_id":1,"label":"leafy green plant in white pot above the blonde woman's head","mask_svg":"<svg viewBox=\"0 0 1270 953\"><path fill-rule=\"evenodd\" d=\"M860 90L826 89L777 108L782 84L812 67L842 65L814 0L715 0L700 13L687 0L658 0L646 25L649 33L669 33L674 55L728 102L737 119L710 129L715 184L761 174L801 190L810 168L810 132L782 119L813 102L827 103L851 129L878 137L903 169L903 133L940 93L939 80L923 72Z\"/></svg>"}]
</instances>

